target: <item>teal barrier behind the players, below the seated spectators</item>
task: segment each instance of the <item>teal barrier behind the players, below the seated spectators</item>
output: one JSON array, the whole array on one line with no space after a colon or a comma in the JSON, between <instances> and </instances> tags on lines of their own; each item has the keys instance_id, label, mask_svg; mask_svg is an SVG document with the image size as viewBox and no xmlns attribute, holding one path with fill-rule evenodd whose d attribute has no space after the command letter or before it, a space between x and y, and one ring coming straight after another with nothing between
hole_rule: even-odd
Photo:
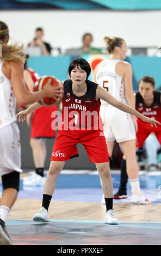
<instances>
[{"instance_id":1,"label":"teal barrier behind the players, below the seated spectators","mask_svg":"<svg viewBox=\"0 0 161 256\"><path fill-rule=\"evenodd\" d=\"M76 58L78 56L75 56ZM38 72L41 76L52 75L57 77L60 81L67 79L67 71L70 62L73 58L71 56L42 56L30 57L28 59L28 66ZM91 64L91 61L97 58L95 56L82 56ZM102 56L104 59L109 56ZM98 56L100 58L100 55ZM147 57L147 56L132 56L127 57L126 61L132 64L133 67L133 89L134 92L138 90L138 81L142 76L153 76L156 81L156 89L161 86L161 57ZM92 72L90 75L92 80Z\"/></svg>"}]
</instances>

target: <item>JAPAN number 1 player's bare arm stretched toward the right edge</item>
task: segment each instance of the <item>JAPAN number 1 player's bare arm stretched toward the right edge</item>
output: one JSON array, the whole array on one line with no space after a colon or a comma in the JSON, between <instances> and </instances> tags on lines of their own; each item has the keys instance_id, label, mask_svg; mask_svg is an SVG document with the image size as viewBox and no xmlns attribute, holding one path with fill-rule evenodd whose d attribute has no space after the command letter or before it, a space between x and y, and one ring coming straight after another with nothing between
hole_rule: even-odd
<instances>
[{"instance_id":1,"label":"JAPAN number 1 player's bare arm stretched toward the right edge","mask_svg":"<svg viewBox=\"0 0 161 256\"><path fill-rule=\"evenodd\" d=\"M151 126L157 127L156 124L161 125L157 120L154 120L152 118L148 118L145 117L145 115L139 113L137 110L135 110L134 108L118 101L115 99L115 97L113 97L112 95L110 95L107 90L105 90L104 88L98 86L97 90L96 90L96 100L98 99L102 99L104 101L106 101L107 103L109 103L110 105L120 109L123 112L126 112L128 114L132 114L135 115L135 117L140 118L141 120L147 122L147 123L151 123Z\"/></svg>"}]
</instances>

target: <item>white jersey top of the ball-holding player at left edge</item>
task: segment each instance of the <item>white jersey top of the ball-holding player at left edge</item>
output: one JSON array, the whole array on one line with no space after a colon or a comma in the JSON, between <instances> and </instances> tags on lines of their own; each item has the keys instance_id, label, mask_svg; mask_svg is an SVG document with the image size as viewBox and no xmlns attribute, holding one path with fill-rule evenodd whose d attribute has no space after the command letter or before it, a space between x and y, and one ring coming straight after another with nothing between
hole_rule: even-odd
<instances>
[{"instance_id":1,"label":"white jersey top of the ball-holding player at left edge","mask_svg":"<svg viewBox=\"0 0 161 256\"><path fill-rule=\"evenodd\" d=\"M0 62L0 129L16 121L16 98Z\"/></svg>"}]
</instances>

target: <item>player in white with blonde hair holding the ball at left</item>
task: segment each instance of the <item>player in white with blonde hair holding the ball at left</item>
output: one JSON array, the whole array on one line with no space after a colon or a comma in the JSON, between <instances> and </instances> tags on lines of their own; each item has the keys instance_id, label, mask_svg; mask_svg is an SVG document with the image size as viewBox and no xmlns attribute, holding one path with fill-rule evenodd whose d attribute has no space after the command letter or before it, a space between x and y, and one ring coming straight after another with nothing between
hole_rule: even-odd
<instances>
[{"instance_id":1,"label":"player in white with blonde hair holding the ball at left","mask_svg":"<svg viewBox=\"0 0 161 256\"><path fill-rule=\"evenodd\" d=\"M41 92L28 92L23 81L23 64L26 60L22 53L23 46L17 43L8 45L8 41L9 28L0 21L0 175L3 185L2 198L0 194L0 245L11 245L5 220L16 201L22 172L16 100L21 105L26 105L51 95L58 99L61 93L59 87L51 86L51 81Z\"/></svg>"}]
</instances>

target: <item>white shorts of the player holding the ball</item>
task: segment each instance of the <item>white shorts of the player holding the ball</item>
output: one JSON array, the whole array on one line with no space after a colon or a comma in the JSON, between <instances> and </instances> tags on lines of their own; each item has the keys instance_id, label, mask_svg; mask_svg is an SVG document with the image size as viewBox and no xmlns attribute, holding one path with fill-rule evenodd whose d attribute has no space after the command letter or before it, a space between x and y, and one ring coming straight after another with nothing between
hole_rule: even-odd
<instances>
[{"instance_id":1,"label":"white shorts of the player holding the ball","mask_svg":"<svg viewBox=\"0 0 161 256\"><path fill-rule=\"evenodd\" d=\"M0 129L0 175L21 169L20 131L16 123Z\"/></svg>"}]
</instances>

